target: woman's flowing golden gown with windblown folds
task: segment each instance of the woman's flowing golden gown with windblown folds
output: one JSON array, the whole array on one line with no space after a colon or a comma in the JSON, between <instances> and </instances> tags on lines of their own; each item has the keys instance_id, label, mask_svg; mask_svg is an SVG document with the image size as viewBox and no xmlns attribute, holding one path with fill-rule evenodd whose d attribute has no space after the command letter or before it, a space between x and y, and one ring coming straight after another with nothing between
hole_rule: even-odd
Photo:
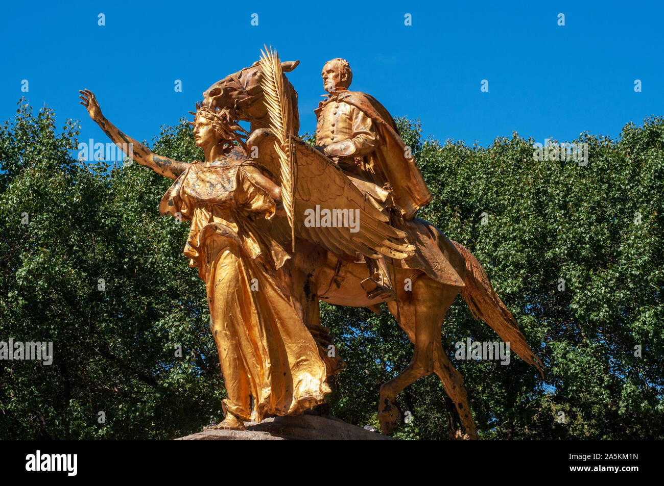
<instances>
[{"instance_id":1,"label":"woman's flowing golden gown with windblown folds","mask_svg":"<svg viewBox=\"0 0 664 486\"><path fill-rule=\"evenodd\" d=\"M184 253L205 280L228 393L224 413L260 422L311 408L330 389L319 347L286 286L290 257L252 224L270 219L276 204L252 182L249 164L231 158L191 164L159 210L191 220Z\"/></svg>"}]
</instances>

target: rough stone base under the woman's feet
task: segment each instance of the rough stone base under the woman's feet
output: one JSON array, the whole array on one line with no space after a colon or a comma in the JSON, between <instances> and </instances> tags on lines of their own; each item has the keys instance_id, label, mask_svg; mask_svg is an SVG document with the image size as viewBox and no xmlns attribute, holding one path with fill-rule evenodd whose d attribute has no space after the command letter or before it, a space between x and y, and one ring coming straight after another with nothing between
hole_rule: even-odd
<instances>
[{"instance_id":1,"label":"rough stone base under the woman's feet","mask_svg":"<svg viewBox=\"0 0 664 486\"><path fill-rule=\"evenodd\" d=\"M331 416L270 417L244 426L247 430L206 430L175 440L394 440Z\"/></svg>"}]
</instances>

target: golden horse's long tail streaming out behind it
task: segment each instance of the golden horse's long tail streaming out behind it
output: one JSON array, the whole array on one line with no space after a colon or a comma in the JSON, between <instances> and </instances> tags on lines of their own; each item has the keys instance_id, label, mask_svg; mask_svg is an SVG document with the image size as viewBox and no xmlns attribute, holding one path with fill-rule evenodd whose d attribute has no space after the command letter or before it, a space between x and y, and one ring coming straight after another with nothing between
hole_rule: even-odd
<instances>
[{"instance_id":1,"label":"golden horse's long tail streaming out behind it","mask_svg":"<svg viewBox=\"0 0 664 486\"><path fill-rule=\"evenodd\" d=\"M544 378L542 361L533 353L511 312L493 290L479 261L463 245L453 243L465 260L465 287L461 289L461 296L473 316L489 324L504 342L510 343L510 349L514 349L523 361L537 367Z\"/></svg>"}]
</instances>

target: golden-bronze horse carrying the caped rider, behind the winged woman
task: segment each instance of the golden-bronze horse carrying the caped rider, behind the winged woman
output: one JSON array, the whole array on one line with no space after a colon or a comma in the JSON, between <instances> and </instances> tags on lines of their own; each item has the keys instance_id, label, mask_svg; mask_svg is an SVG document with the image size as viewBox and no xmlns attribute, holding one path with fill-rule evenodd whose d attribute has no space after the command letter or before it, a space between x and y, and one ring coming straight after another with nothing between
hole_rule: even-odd
<instances>
[{"instance_id":1,"label":"golden-bronze horse carrying the caped rider, behind the winged woman","mask_svg":"<svg viewBox=\"0 0 664 486\"><path fill-rule=\"evenodd\" d=\"M282 62L283 72L291 72L299 61ZM273 174L278 173L278 161L272 154L274 136L261 87L262 66L254 63L216 82L204 93L204 103L210 107L228 108L238 120L251 123L249 148L258 148L256 160ZM290 97L292 123L290 132L297 137L297 93L284 75L285 95ZM318 158L317 163L335 165L320 152L297 139L298 170L306 164L299 159ZM320 158L325 161L321 162ZM340 171L341 172L341 171ZM276 181L279 184L278 181ZM352 184L351 182L348 182ZM290 241L284 219L266 223L266 231L278 241ZM307 229L298 228L299 235ZM430 373L436 373L448 396L454 402L462 431L454 431L456 438L476 439L477 428L468 404L461 374L452 366L442 347L442 324L448 308L457 294L471 312L503 339L511 343L521 359L535 365L540 373L540 361L519 331L517 322L496 294L479 261L462 245L448 239L434 225L422 219L404 221L400 228L416 251L409 258L393 258L392 271L396 300L386 302L390 313L414 344L414 355L408 367L394 379L380 387L378 419L384 434L392 431L402 420L395 405L396 396L408 385ZM288 247L288 243L284 247ZM320 345L331 343L327 330L320 323L319 302L323 300L341 306L367 307L379 312L380 298L369 300L360 282L369 270L363 257L340 251L341 245L325 236L296 239L296 251L290 263L291 293L301 309L303 320ZM386 253L387 254L387 253ZM365 253L365 255L368 255ZM406 282L407 284L402 284ZM331 374L339 371L335 369Z\"/></svg>"}]
</instances>

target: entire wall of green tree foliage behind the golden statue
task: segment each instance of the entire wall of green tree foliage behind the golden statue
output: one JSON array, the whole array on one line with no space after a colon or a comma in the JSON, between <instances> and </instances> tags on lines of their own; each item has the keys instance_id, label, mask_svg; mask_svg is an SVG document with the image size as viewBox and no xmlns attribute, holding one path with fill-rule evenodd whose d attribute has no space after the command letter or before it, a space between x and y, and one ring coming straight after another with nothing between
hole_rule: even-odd
<instances>
[{"instance_id":1,"label":"entire wall of green tree foliage behind the golden statue","mask_svg":"<svg viewBox=\"0 0 664 486\"><path fill-rule=\"evenodd\" d=\"M182 255L188 224L157 210L171 181L73 160L78 127L57 133L52 111L22 103L0 129L0 340L53 341L54 358L0 361L0 437L173 438L220 420L205 288ZM516 133L441 145L398 123L435 196L419 216L479 259L546 365L542 380L515 355L454 359L457 341L498 339L457 298L443 345L481 437L663 438L664 119L618 140L581 134L586 166L533 160ZM182 122L152 149L203 158ZM412 345L385 309L323 304L322 316L347 362L331 410L378 428L378 389ZM414 420L395 436L448 438L456 414L438 377L398 402Z\"/></svg>"}]
</instances>

